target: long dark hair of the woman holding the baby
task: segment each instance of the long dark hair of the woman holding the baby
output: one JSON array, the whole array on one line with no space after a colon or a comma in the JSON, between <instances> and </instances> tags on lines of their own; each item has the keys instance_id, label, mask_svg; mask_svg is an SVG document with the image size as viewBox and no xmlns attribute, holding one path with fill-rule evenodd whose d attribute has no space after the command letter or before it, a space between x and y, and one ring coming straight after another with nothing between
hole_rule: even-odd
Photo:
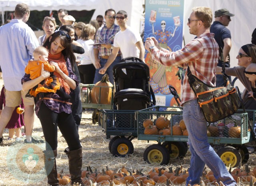
<instances>
[{"instance_id":1,"label":"long dark hair of the woman holding the baby","mask_svg":"<svg viewBox=\"0 0 256 186\"><path fill-rule=\"evenodd\" d=\"M71 47L71 38L68 35L68 33L64 30L60 30L57 32L54 32L49 38L47 38L46 42L44 42L44 47L46 47L50 51L51 44L56 38L60 38L60 44L64 47L64 50L62 50L62 54L65 57L65 60L67 58L70 59L70 63L72 65L72 68L74 67L74 63L76 62L76 57L73 53L72 47Z\"/></svg>"}]
</instances>

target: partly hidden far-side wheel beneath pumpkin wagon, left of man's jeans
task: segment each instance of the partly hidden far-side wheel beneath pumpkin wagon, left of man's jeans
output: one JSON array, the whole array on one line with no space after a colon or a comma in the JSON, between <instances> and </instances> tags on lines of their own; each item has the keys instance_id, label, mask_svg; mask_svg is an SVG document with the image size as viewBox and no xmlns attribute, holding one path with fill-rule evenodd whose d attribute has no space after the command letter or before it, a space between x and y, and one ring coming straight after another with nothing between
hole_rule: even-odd
<instances>
[{"instance_id":1,"label":"partly hidden far-side wheel beneath pumpkin wagon, left of man's jeans","mask_svg":"<svg viewBox=\"0 0 256 186\"><path fill-rule=\"evenodd\" d=\"M170 151L169 151L169 144L172 144ZM186 153L188 152L188 147L185 145L184 142L165 141L163 142L162 146L164 146L168 150L171 160L175 160L177 158L183 159Z\"/></svg>"}]
</instances>

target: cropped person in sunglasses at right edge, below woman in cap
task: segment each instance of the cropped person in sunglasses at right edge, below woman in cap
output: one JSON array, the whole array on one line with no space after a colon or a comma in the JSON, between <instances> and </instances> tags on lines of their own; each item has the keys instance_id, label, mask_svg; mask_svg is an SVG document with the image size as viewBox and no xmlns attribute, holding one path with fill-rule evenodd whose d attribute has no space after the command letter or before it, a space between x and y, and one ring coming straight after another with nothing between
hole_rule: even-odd
<instances>
[{"instance_id":1,"label":"cropped person in sunglasses at right edge, below woman in cap","mask_svg":"<svg viewBox=\"0 0 256 186\"><path fill-rule=\"evenodd\" d=\"M249 97L256 98L256 63L251 63L246 67L245 71L245 76L248 77L249 81L252 82L252 91L248 92Z\"/></svg>"}]
</instances>

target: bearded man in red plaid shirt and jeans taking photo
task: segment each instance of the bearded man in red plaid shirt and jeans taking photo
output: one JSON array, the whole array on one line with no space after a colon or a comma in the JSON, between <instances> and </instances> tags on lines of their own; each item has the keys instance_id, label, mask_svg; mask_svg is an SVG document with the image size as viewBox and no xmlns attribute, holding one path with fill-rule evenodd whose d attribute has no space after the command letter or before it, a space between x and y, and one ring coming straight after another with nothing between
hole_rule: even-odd
<instances>
[{"instance_id":1,"label":"bearded man in red plaid shirt and jeans taking photo","mask_svg":"<svg viewBox=\"0 0 256 186\"><path fill-rule=\"evenodd\" d=\"M155 38L147 38L145 48L150 51L154 61L166 66L190 67L196 75L207 85L214 86L215 69L218 63L218 44L214 34L210 33L212 10L208 7L194 7L188 18L190 34L197 38L189 42L184 48L171 52L159 46ZM213 171L216 180L226 186L235 186L236 181L228 173L225 164L208 143L206 120L196 96L188 82L187 72L183 83L182 101L183 119L188 130L188 144L190 145L191 160L189 176L186 184L198 184L205 164Z\"/></svg>"}]
</instances>

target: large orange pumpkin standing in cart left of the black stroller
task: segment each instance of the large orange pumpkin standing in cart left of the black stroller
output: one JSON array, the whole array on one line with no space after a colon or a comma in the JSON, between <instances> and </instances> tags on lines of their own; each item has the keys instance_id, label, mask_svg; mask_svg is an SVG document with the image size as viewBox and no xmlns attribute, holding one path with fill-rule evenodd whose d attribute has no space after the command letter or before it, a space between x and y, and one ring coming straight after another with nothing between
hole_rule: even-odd
<instances>
[{"instance_id":1,"label":"large orange pumpkin standing in cart left of the black stroller","mask_svg":"<svg viewBox=\"0 0 256 186\"><path fill-rule=\"evenodd\" d=\"M108 81L108 74L98 81L91 91L91 101L96 104L110 105L112 99L112 83Z\"/></svg>"}]
</instances>

